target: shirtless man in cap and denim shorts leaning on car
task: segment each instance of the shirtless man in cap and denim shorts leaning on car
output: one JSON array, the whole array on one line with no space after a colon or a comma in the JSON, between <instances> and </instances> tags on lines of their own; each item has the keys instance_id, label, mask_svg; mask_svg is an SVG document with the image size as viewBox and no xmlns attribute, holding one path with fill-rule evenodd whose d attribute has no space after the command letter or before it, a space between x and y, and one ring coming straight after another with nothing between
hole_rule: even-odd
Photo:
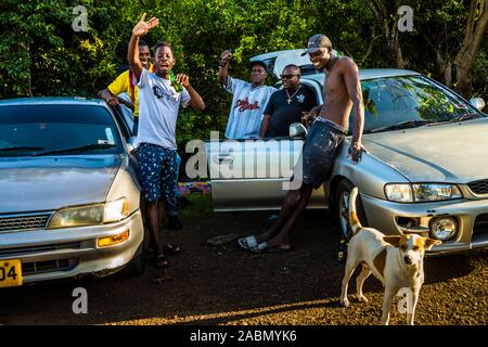
<instances>
[{"instance_id":1,"label":"shirtless man in cap and denim shorts leaning on car","mask_svg":"<svg viewBox=\"0 0 488 347\"><path fill-rule=\"evenodd\" d=\"M301 156L294 169L293 180L301 184L287 192L277 222L260 235L237 240L241 247L254 252L283 252L291 248L290 234L300 213L307 207L313 189L325 181L338 154L338 149L349 128L352 110L354 130L349 156L354 164L361 160L361 136L364 124L359 69L347 56L338 57L332 52L331 40L321 34L308 40L301 55L308 54L313 66L325 73L323 83L324 104L312 108L310 126Z\"/></svg>"}]
</instances>

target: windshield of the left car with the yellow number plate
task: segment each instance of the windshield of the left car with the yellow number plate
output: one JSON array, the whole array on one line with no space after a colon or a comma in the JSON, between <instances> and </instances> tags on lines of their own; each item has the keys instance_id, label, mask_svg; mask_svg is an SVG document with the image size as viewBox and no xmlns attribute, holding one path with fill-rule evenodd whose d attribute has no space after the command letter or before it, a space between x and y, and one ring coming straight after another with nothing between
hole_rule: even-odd
<instances>
[{"instance_id":1,"label":"windshield of the left car with the yellow number plate","mask_svg":"<svg viewBox=\"0 0 488 347\"><path fill-rule=\"evenodd\" d=\"M105 107L0 106L0 156L114 154L121 151L117 126Z\"/></svg>"}]
</instances>

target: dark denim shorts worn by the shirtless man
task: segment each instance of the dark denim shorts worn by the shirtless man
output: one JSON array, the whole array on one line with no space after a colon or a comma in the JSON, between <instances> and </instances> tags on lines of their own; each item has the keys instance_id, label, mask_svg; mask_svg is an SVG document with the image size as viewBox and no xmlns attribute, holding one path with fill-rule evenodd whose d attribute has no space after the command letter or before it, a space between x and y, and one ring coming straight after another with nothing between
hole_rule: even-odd
<instances>
[{"instance_id":1,"label":"dark denim shorts worn by the shirtless man","mask_svg":"<svg viewBox=\"0 0 488 347\"><path fill-rule=\"evenodd\" d=\"M318 189L337 157L347 130L325 118L317 117L308 129L301 155L294 169L295 179Z\"/></svg>"}]
</instances>

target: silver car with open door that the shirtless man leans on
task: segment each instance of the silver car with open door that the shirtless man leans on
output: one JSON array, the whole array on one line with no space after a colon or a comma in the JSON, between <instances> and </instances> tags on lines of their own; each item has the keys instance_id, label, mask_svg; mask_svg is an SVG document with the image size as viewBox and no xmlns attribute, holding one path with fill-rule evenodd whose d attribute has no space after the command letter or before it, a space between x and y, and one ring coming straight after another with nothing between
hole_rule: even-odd
<instances>
[{"instance_id":1,"label":"silver car with open door that the shirtless man leans on","mask_svg":"<svg viewBox=\"0 0 488 347\"><path fill-rule=\"evenodd\" d=\"M299 65L303 88L310 88L322 103L324 75L301 52L272 52L253 60L265 61L278 79L285 65ZM329 208L348 239L348 197L357 185L364 226L387 234L411 232L441 240L433 253L488 246L488 118L479 111L484 101L468 102L411 70L361 69L360 78L365 105L362 143L368 153L358 165L347 157L350 121L330 178L313 191L308 208ZM291 134L208 141L215 209L280 208L286 193L283 182L290 181L305 131L295 124ZM283 158L285 169L279 170Z\"/></svg>"}]
</instances>

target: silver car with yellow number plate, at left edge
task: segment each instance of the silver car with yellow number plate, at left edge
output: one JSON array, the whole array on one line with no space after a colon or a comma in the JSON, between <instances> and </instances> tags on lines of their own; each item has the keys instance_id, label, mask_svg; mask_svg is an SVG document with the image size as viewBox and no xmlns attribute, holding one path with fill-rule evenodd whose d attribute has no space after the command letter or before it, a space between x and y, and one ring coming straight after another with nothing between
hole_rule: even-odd
<instances>
[{"instance_id":1,"label":"silver car with yellow number plate, at left edge","mask_svg":"<svg viewBox=\"0 0 488 347\"><path fill-rule=\"evenodd\" d=\"M130 129L101 100L0 101L0 287L144 270Z\"/></svg>"}]
</instances>

